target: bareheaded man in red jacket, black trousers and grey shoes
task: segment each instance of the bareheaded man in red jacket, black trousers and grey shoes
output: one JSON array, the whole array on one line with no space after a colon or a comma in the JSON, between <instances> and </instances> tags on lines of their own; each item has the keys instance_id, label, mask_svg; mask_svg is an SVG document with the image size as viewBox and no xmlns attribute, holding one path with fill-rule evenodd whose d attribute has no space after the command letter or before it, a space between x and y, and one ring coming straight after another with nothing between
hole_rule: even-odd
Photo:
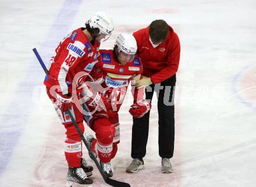
<instances>
[{"instance_id":1,"label":"bareheaded man in red jacket, black trousers and grey shoes","mask_svg":"<svg viewBox=\"0 0 256 187\"><path fill-rule=\"evenodd\" d=\"M173 156L175 139L174 87L180 60L180 42L172 27L164 20L152 21L150 26L133 33L136 38L137 55L143 63L143 76L136 87L145 87L146 99L151 101L154 91L158 96L159 156L162 172L172 172L170 158ZM133 161L126 172L144 168L150 112L141 118L133 117L131 157Z\"/></svg>"}]
</instances>

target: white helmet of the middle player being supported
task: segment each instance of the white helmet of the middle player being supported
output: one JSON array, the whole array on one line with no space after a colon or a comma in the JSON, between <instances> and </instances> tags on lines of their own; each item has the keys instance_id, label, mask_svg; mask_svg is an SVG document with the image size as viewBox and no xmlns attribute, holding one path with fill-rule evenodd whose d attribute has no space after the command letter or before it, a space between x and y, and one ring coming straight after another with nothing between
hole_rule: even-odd
<instances>
[{"instance_id":1,"label":"white helmet of the middle player being supported","mask_svg":"<svg viewBox=\"0 0 256 187\"><path fill-rule=\"evenodd\" d=\"M122 51L127 55L135 55L137 52L137 42L132 34L119 34L115 45L118 46L118 53Z\"/></svg>"}]
</instances>

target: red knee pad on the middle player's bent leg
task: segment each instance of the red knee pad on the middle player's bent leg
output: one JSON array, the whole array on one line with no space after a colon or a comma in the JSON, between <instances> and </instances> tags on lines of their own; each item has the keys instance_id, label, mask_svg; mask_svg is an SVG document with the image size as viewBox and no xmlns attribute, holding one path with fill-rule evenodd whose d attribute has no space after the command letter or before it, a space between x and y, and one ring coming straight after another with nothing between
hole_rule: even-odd
<instances>
[{"instance_id":1,"label":"red knee pad on the middle player's bent leg","mask_svg":"<svg viewBox=\"0 0 256 187\"><path fill-rule=\"evenodd\" d=\"M94 131L101 145L111 145L115 135L115 127L108 118L98 118L94 121Z\"/></svg>"}]
</instances>

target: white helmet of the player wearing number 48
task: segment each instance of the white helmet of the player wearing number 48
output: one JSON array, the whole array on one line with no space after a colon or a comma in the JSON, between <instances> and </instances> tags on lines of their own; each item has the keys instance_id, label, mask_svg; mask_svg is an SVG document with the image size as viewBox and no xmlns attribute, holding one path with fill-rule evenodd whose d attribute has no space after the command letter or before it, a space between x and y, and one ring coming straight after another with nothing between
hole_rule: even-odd
<instances>
[{"instance_id":1,"label":"white helmet of the player wearing number 48","mask_svg":"<svg viewBox=\"0 0 256 187\"><path fill-rule=\"evenodd\" d=\"M91 16L91 19L88 20L88 23L91 28L99 29L99 35L104 34L108 36L106 39L111 36L114 29L111 17L105 12L94 13L94 15Z\"/></svg>"}]
</instances>

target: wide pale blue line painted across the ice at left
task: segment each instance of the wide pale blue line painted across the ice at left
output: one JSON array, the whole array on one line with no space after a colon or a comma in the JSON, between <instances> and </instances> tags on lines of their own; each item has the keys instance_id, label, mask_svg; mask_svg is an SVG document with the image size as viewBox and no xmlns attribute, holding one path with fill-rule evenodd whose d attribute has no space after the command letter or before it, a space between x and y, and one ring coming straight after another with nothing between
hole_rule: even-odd
<instances>
[{"instance_id":1,"label":"wide pale blue line painted across the ice at left","mask_svg":"<svg viewBox=\"0 0 256 187\"><path fill-rule=\"evenodd\" d=\"M55 49L60 41L59 39L65 37L69 31L69 26L72 24L80 4L81 0L66 0L63 3L62 8L59 10L56 19L52 24L47 37L45 38L44 43L40 47L40 49L45 48L44 50L40 50L42 57L47 56L46 54L49 52L49 48L51 48L51 54L54 54L52 49ZM62 36L62 38L59 38L60 36ZM59 38L58 42L54 40L56 38ZM32 49L31 53L33 53ZM6 109L6 112L0 121L0 124L3 124L1 125L0 131L0 175L3 173L3 171L5 171L13 149L15 148L16 143L19 141L22 131L26 127L26 118L29 117L30 112L33 111L34 106L31 102L31 90L33 90L35 85L42 84L43 82L43 80L40 78L34 80L31 77L40 77L38 75L42 74L44 74L44 71L41 69L40 64L33 60L29 66L29 69L27 70L27 75L25 76L24 80L20 81L19 85L17 86L19 87L15 93L17 97L13 98L11 104L9 105L8 109ZM20 98L22 98L22 100L20 100ZM26 105L26 107L24 107L24 105ZM17 121L19 121L19 123L17 123Z\"/></svg>"}]
</instances>

